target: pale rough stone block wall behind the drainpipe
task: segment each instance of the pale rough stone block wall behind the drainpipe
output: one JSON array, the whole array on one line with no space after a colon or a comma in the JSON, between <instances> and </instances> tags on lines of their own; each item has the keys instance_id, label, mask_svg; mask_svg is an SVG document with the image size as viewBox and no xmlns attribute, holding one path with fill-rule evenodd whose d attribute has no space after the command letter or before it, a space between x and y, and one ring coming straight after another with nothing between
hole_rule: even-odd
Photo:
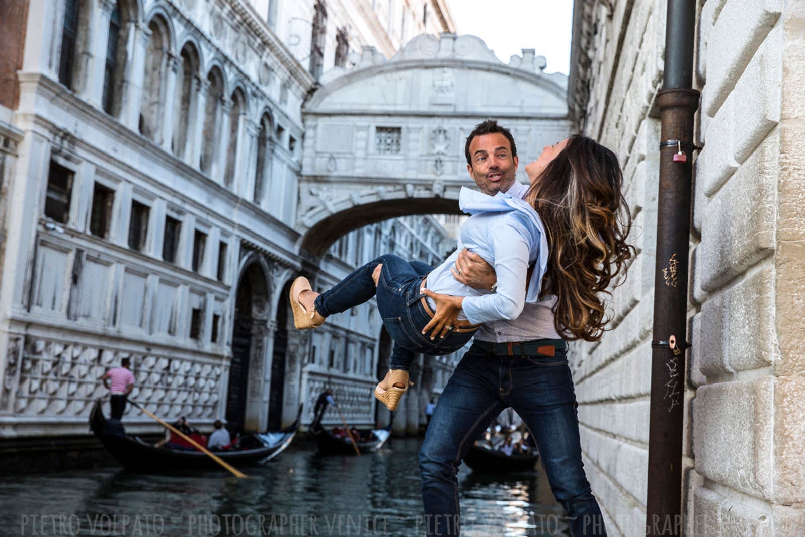
<instances>
[{"instance_id":1,"label":"pale rough stone block wall behind the drainpipe","mask_svg":"<svg viewBox=\"0 0 805 537\"><path fill-rule=\"evenodd\" d=\"M803 2L698 2L702 92L683 445L687 535L802 535ZM576 0L568 101L624 169L638 257L576 345L584 463L610 535L644 535L666 2Z\"/></svg>"}]
</instances>

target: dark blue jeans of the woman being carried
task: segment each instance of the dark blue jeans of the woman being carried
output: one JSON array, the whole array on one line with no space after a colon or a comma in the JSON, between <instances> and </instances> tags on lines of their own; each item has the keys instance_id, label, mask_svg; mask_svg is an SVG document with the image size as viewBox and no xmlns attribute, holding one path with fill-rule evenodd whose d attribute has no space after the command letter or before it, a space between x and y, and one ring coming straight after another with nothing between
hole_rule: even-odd
<instances>
[{"instance_id":1,"label":"dark blue jeans of the woman being carried","mask_svg":"<svg viewBox=\"0 0 805 537\"><path fill-rule=\"evenodd\" d=\"M383 268L375 287L372 273L378 264ZM317 296L316 311L324 316L344 312L377 295L378 312L394 340L390 367L408 371L416 353L432 356L455 353L473 337L473 332L451 332L444 338L431 340L429 334L426 337L422 333L431 316L423 308L419 286L432 270L423 262L406 261L394 254L381 255Z\"/></svg>"}]
</instances>

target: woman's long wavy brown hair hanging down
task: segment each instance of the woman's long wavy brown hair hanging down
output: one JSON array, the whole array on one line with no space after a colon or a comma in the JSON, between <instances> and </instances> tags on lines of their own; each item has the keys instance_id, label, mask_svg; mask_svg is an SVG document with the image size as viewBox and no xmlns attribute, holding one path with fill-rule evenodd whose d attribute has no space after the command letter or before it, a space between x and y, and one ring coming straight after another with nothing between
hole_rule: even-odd
<instances>
[{"instance_id":1,"label":"woman's long wavy brown hair hanging down","mask_svg":"<svg viewBox=\"0 0 805 537\"><path fill-rule=\"evenodd\" d=\"M543 294L556 295L556 330L568 340L601 339L610 320L604 296L623 283L635 254L626 244L632 218L622 187L617 156L575 135L528 191L548 235Z\"/></svg>"}]
</instances>

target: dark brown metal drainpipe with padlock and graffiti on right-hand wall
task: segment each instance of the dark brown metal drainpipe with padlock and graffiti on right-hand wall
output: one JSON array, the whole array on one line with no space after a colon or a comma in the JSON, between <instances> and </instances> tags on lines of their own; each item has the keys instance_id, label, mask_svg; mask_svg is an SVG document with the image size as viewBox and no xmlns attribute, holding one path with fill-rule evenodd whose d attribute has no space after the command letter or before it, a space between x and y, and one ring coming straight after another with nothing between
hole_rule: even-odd
<instances>
[{"instance_id":1,"label":"dark brown metal drainpipe with padlock and graffiti on right-hand wall","mask_svg":"<svg viewBox=\"0 0 805 537\"><path fill-rule=\"evenodd\" d=\"M668 0L651 342L646 535L682 535L682 432L687 348L696 0Z\"/></svg>"}]
</instances>

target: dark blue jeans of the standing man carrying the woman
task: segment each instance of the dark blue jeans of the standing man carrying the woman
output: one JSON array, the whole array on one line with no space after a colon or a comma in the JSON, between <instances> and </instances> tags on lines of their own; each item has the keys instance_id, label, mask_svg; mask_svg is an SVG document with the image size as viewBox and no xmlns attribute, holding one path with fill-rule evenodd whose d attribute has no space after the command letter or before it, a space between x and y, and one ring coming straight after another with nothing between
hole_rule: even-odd
<instances>
[{"instance_id":1,"label":"dark blue jeans of the standing man carrying the woman","mask_svg":"<svg viewBox=\"0 0 805 537\"><path fill-rule=\"evenodd\" d=\"M534 436L571 535L606 535L581 461L576 394L565 351L557 349L555 357L496 356L477 345L464 354L444 387L419 451L427 535L460 535L458 465L507 407Z\"/></svg>"}]
</instances>

